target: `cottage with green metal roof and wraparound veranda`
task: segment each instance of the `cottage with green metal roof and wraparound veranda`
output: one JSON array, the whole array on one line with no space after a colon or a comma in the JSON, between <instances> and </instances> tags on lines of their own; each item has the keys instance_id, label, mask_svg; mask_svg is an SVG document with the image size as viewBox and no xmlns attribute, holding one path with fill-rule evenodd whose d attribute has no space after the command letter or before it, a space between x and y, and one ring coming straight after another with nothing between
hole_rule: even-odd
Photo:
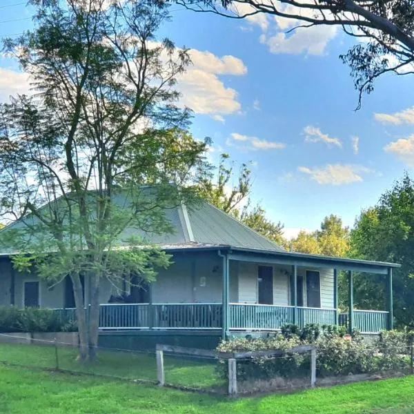
<instances>
[{"instance_id":1,"label":"cottage with green metal roof and wraparound veranda","mask_svg":"<svg viewBox=\"0 0 414 414\"><path fill-rule=\"evenodd\" d=\"M348 324L362 333L393 327L392 270L396 264L287 252L204 202L167 211L175 228L152 242L173 255L150 286L103 280L100 329L135 335L201 335L277 331L284 324ZM72 284L49 287L36 275L17 273L12 253L0 253L0 305L40 306L73 313ZM386 309L338 312L338 272L346 270L353 303L353 275L384 276ZM369 275L368 275L369 277ZM88 287L85 284L85 297ZM104 335L104 334L103 334Z\"/></svg>"}]
</instances>

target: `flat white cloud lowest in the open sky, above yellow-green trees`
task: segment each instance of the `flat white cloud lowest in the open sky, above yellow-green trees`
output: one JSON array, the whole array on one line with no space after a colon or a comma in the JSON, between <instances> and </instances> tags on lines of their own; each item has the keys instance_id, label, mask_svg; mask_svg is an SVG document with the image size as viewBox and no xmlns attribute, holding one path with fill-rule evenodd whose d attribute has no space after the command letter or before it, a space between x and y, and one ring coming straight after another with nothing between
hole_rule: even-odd
<instances>
[{"instance_id":1,"label":"flat white cloud lowest in the open sky, above yellow-green trees","mask_svg":"<svg viewBox=\"0 0 414 414\"><path fill-rule=\"evenodd\" d=\"M299 172L307 174L318 184L341 186L364 181L362 174L373 172L364 166L352 166L342 164L328 164L323 168L299 167Z\"/></svg>"}]
</instances>

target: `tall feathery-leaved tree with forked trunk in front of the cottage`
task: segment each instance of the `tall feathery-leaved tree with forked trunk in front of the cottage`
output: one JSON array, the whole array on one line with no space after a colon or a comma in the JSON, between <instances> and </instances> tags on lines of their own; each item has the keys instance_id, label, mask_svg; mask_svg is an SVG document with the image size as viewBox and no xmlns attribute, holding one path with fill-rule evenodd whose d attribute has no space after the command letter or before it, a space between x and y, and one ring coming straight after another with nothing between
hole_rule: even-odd
<instances>
[{"instance_id":1,"label":"tall feathery-leaved tree with forked trunk in front of the cottage","mask_svg":"<svg viewBox=\"0 0 414 414\"><path fill-rule=\"evenodd\" d=\"M163 1L30 4L34 30L5 43L36 94L0 107L0 215L19 219L1 239L22 253L19 270L50 284L70 276L79 356L94 359L101 280L120 289L125 277L152 281L168 266L145 235L171 231L166 208L193 200L205 144L175 104L187 52L155 38L168 19Z\"/></svg>"}]
</instances>

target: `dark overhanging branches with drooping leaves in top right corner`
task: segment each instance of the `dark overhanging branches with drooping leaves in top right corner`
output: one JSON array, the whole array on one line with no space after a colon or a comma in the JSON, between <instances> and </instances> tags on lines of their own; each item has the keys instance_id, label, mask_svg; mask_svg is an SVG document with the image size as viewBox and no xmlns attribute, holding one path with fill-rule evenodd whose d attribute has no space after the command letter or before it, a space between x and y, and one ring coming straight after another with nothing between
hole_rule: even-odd
<instances>
[{"instance_id":1,"label":"dark overhanging branches with drooping leaves in top right corner","mask_svg":"<svg viewBox=\"0 0 414 414\"><path fill-rule=\"evenodd\" d=\"M344 55L351 67L359 106L364 92L386 72L413 73L414 5L410 0L176 0L197 12L214 12L233 19L255 14L297 21L291 30L312 26L339 26L346 34L362 39ZM289 31L291 31L289 30Z\"/></svg>"}]
</instances>

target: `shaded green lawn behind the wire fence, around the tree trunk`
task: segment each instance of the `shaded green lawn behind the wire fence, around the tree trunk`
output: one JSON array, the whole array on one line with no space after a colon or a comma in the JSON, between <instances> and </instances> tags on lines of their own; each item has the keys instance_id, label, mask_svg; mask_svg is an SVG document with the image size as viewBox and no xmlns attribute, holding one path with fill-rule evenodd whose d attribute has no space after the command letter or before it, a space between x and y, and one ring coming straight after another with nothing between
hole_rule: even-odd
<instances>
[{"instance_id":1,"label":"shaded green lawn behind the wire fence, around the tree trunk","mask_svg":"<svg viewBox=\"0 0 414 414\"><path fill-rule=\"evenodd\" d=\"M99 351L94 364L77 362L73 348L58 348L58 366L62 370L95 373L129 380L157 380L157 362L154 354L119 351ZM55 368L56 355L53 346L0 344L0 362L28 367ZM205 359L194 360L177 357L164 359L166 382L195 388L224 386L216 372L217 363ZM1 411L0 411L1 413Z\"/></svg>"}]
</instances>

